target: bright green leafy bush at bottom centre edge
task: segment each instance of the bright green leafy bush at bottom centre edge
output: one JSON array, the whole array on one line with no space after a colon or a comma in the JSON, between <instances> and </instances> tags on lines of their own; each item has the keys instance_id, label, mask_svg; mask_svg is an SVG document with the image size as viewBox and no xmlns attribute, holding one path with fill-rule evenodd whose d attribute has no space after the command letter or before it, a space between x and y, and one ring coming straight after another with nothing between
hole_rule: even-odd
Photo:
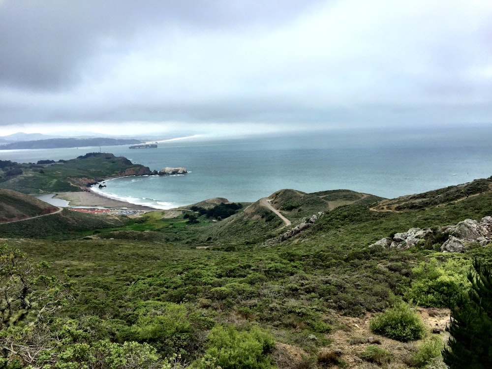
<instances>
[{"instance_id":1,"label":"bright green leafy bush at bottom centre edge","mask_svg":"<svg viewBox=\"0 0 492 369\"><path fill-rule=\"evenodd\" d=\"M271 369L273 338L257 327L238 332L233 326L215 326L207 338L198 369Z\"/></svg>"}]
</instances>

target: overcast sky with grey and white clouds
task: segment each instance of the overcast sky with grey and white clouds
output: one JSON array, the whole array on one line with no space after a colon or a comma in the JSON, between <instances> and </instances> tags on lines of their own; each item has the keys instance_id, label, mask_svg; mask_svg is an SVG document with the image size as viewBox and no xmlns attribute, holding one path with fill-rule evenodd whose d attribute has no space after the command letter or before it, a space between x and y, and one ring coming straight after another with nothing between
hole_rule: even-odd
<instances>
[{"instance_id":1,"label":"overcast sky with grey and white clouds","mask_svg":"<svg viewBox=\"0 0 492 369\"><path fill-rule=\"evenodd\" d=\"M0 0L0 136L491 123L491 0Z\"/></svg>"}]
</instances>

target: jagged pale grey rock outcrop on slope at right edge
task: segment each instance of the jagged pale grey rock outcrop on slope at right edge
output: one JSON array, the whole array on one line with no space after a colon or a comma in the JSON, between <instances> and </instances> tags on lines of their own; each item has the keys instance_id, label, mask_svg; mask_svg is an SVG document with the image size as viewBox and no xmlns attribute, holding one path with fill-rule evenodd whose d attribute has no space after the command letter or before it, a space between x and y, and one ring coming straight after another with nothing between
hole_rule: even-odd
<instances>
[{"instance_id":1,"label":"jagged pale grey rock outcrop on slope at right edge","mask_svg":"<svg viewBox=\"0 0 492 369\"><path fill-rule=\"evenodd\" d=\"M447 240L441 245L442 252L465 252L471 243L481 246L492 242L492 216L485 216L480 221L465 219L457 225L441 227L440 232L447 234ZM430 228L410 228L407 232L395 233L392 238L383 238L369 247L408 248L424 239Z\"/></svg>"}]
</instances>

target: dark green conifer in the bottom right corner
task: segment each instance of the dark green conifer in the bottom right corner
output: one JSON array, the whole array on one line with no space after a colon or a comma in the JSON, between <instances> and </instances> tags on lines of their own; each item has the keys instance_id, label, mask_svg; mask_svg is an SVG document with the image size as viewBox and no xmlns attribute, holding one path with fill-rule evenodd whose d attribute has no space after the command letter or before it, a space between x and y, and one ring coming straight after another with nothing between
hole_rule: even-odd
<instances>
[{"instance_id":1,"label":"dark green conifer in the bottom right corner","mask_svg":"<svg viewBox=\"0 0 492 369\"><path fill-rule=\"evenodd\" d=\"M442 356L450 369L485 369L492 363L492 270L475 259L468 280L468 296L451 309L446 327L450 338Z\"/></svg>"}]
</instances>

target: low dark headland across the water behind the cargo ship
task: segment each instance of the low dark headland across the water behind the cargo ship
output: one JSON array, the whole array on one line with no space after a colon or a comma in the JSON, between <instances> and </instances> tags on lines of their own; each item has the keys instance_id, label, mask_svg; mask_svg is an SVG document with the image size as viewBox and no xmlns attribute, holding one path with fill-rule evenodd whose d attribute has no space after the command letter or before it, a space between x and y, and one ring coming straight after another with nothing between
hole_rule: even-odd
<instances>
[{"instance_id":1,"label":"low dark headland across the water behind the cargo ship","mask_svg":"<svg viewBox=\"0 0 492 369\"><path fill-rule=\"evenodd\" d=\"M19 141L1 145L0 150L57 149L67 147L134 145L142 141L116 138L50 138L46 140Z\"/></svg>"}]
</instances>

